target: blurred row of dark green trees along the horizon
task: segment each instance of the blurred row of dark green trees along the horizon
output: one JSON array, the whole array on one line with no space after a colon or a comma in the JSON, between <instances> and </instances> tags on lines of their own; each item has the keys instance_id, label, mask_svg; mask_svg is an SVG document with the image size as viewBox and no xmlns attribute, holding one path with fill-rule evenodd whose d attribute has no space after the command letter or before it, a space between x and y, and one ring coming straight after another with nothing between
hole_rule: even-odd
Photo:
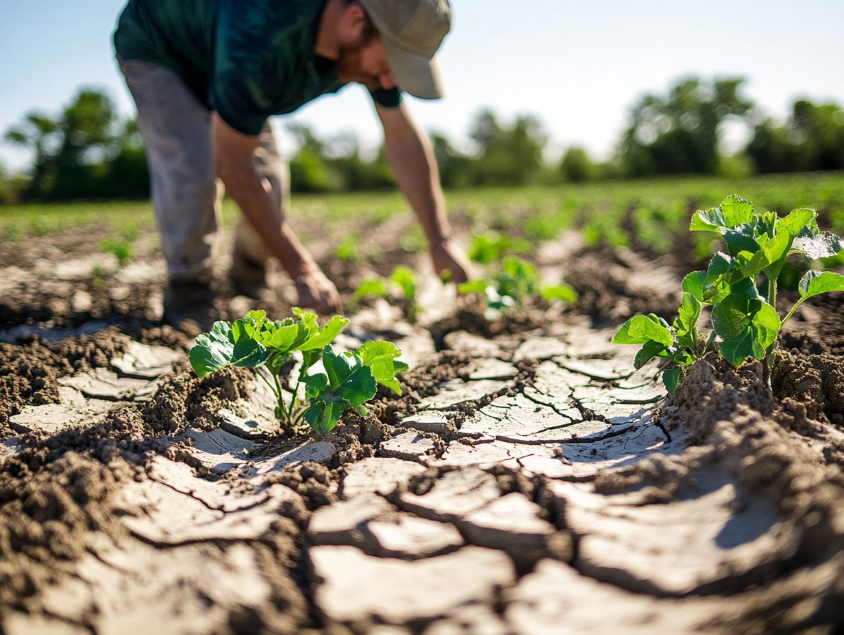
<instances>
[{"instance_id":1,"label":"blurred row of dark green trees along the horizon","mask_svg":"<svg viewBox=\"0 0 844 635\"><path fill-rule=\"evenodd\" d=\"M764 174L844 170L844 109L795 101L787 121L774 121L743 93L743 78L686 78L666 94L646 94L609 161L567 148L556 164L544 160L549 136L534 116L506 124L483 110L469 131L471 150L432 132L446 188L583 182L658 175ZM738 153L721 149L724 125L752 127ZM394 186L383 148L366 156L354 134L319 137L288 126L296 139L290 160L294 191L365 191ZM61 112L33 111L4 133L32 153L29 170L0 165L0 202L64 201L149 196L149 172L135 119L120 117L99 89L81 89Z\"/></svg>"}]
</instances>

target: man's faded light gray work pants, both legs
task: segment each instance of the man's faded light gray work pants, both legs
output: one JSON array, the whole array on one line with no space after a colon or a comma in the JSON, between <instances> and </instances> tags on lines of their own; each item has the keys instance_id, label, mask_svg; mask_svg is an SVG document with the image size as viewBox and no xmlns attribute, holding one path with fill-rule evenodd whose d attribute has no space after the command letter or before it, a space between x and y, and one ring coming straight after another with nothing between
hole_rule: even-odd
<instances>
[{"instance_id":1,"label":"man's faded light gray work pants, both legs","mask_svg":"<svg viewBox=\"0 0 844 635\"><path fill-rule=\"evenodd\" d=\"M214 177L211 113L170 68L119 60L135 104L152 181L161 251L173 282L208 283L219 225L222 183ZM269 122L255 150L258 173L269 181L279 218L289 209L289 170ZM269 252L241 216L235 258L264 263Z\"/></svg>"}]
</instances>

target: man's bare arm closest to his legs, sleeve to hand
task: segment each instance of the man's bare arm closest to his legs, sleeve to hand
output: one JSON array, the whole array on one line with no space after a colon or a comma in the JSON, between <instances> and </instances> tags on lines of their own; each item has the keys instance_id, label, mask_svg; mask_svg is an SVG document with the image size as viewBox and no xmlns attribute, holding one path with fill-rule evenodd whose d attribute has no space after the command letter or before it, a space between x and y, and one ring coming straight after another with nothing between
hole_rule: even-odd
<instances>
[{"instance_id":1,"label":"man's bare arm closest to his legs, sleeve to hand","mask_svg":"<svg viewBox=\"0 0 844 635\"><path fill-rule=\"evenodd\" d=\"M337 290L322 274L289 223L279 218L269 183L255 169L252 154L258 146L258 137L236 131L216 113L212 116L211 129L214 172L223 180L226 191L262 237L270 253L295 280L300 300L306 300L301 304L310 304L306 308L317 309L320 313L338 311Z\"/></svg>"}]
</instances>

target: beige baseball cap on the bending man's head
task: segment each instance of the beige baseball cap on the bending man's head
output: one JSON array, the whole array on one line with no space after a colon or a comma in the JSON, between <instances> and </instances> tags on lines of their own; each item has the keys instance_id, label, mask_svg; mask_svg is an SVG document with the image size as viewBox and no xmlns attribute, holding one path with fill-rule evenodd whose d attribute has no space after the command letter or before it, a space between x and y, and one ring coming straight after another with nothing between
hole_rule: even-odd
<instances>
[{"instance_id":1,"label":"beige baseball cap on the bending man's head","mask_svg":"<svg viewBox=\"0 0 844 635\"><path fill-rule=\"evenodd\" d=\"M358 2L381 34L396 85L423 100L440 99L440 69L431 58L452 26L448 0Z\"/></svg>"}]
</instances>

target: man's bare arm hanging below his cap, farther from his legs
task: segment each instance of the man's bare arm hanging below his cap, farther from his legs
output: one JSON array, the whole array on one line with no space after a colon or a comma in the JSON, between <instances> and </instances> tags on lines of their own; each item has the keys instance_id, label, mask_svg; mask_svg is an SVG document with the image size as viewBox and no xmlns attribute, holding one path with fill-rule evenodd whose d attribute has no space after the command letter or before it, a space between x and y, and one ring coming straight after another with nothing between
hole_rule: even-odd
<instances>
[{"instance_id":1,"label":"man's bare arm hanging below his cap, farther from his legs","mask_svg":"<svg viewBox=\"0 0 844 635\"><path fill-rule=\"evenodd\" d=\"M446 218L440 174L428 137L415 125L404 104L396 108L376 104L376 110L384 126L387 161L425 230L436 273L449 271L455 282L466 282L470 266L450 240L452 229Z\"/></svg>"}]
</instances>

